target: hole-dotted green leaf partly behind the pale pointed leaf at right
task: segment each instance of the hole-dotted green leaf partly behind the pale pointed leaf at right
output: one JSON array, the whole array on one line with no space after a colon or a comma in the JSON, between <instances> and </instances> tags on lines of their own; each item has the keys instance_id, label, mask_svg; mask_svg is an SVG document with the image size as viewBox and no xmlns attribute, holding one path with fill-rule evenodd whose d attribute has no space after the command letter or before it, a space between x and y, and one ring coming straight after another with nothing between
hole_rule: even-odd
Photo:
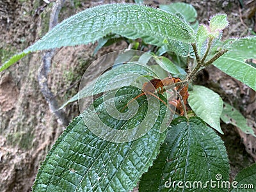
<instances>
[{"instance_id":1,"label":"hole-dotted green leaf partly behind the pale pointed leaf at right","mask_svg":"<svg viewBox=\"0 0 256 192\"><path fill-rule=\"evenodd\" d=\"M237 111L237 109L233 108L226 102L223 104L223 111L220 118L223 120L223 122L225 122L225 124L232 124L241 129L241 131L244 133L252 134L256 137L252 127L248 127L246 118L244 118L244 116L239 111Z\"/></svg>"}]
</instances>

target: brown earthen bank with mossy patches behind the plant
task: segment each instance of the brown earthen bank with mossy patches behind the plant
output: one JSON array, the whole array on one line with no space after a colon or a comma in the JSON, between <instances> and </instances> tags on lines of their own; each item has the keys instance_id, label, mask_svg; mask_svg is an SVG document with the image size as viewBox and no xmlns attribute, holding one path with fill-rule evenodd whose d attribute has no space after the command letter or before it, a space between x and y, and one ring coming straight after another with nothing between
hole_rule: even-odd
<instances>
[{"instance_id":1,"label":"brown earthen bank with mossy patches behind the plant","mask_svg":"<svg viewBox=\"0 0 256 192\"><path fill-rule=\"evenodd\" d=\"M54 0L51 0L51 2ZM117 2L117 1L111 1ZM122 1L119 1L122 2ZM132 1L125 1L132 3ZM157 6L170 1L145 1ZM223 38L252 35L255 27L255 1L184 1L195 6L200 23L207 23L216 13L227 13L230 26ZM65 1L59 20L85 8L109 1ZM0 56L4 61L13 53L33 44L48 31L49 15L54 3L41 0L0 0ZM95 45L58 49L52 59L48 83L59 104L67 101L79 87L86 66L107 52L124 49L119 42L101 49L95 56ZM38 85L38 68L42 52L29 54L0 73L0 191L30 191L38 166L61 134L63 127L52 115ZM218 92L223 100L234 105L256 128L255 92L215 67L207 68L196 83ZM69 120L79 115L77 102L65 108ZM237 131L232 125L221 124L222 136L230 158L231 173L252 164L256 159L255 140ZM254 145L254 146L253 146Z\"/></svg>"}]
</instances>

